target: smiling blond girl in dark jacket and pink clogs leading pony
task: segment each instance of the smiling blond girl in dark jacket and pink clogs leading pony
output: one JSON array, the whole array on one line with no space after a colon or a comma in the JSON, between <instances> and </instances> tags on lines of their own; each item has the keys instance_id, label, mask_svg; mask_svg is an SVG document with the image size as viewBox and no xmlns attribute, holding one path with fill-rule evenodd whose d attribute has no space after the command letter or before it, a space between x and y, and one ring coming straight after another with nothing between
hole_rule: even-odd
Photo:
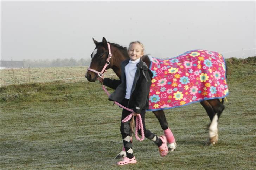
<instances>
[{"instance_id":1,"label":"smiling blond girl in dark jacket and pink clogs leading pony","mask_svg":"<svg viewBox=\"0 0 256 170\"><path fill-rule=\"evenodd\" d=\"M168 153L168 147L165 136L156 136L151 131L146 129L145 126L145 110L148 109L148 95L151 86L152 72L148 69L145 62L140 57L144 54L144 46L139 41L131 42L128 49L130 60L127 59L121 64L121 80L112 80L109 78L99 78L103 85L115 89L109 96L109 100L117 101L123 106L132 109L134 119L136 115L140 114L145 137L151 139L158 147L161 156ZM131 112L123 109L122 120ZM136 121L135 121L136 122ZM122 161L117 162L117 165L126 165L136 163L137 160L133 155L132 141L130 134L130 121L122 123L120 131L123 139L126 157ZM141 131L138 132L141 135Z\"/></svg>"}]
</instances>

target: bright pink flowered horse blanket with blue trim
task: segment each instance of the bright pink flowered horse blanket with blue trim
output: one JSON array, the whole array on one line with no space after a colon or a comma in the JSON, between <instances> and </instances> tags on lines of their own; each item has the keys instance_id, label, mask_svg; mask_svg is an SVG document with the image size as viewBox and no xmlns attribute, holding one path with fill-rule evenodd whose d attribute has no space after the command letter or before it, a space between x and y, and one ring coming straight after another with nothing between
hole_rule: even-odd
<instances>
[{"instance_id":1,"label":"bright pink flowered horse blanket with blue trim","mask_svg":"<svg viewBox=\"0 0 256 170\"><path fill-rule=\"evenodd\" d=\"M218 52L192 50L171 59L149 58L153 77L148 111L228 95L225 59Z\"/></svg>"}]
</instances>

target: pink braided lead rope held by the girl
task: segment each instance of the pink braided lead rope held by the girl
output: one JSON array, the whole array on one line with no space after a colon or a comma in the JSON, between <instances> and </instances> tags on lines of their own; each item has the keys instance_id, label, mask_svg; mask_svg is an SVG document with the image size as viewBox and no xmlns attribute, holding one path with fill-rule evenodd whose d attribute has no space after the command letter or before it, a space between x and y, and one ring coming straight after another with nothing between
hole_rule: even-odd
<instances>
[{"instance_id":1,"label":"pink braided lead rope held by the girl","mask_svg":"<svg viewBox=\"0 0 256 170\"><path fill-rule=\"evenodd\" d=\"M106 87L102 85L102 89L107 93L107 95L109 96L109 92L107 91ZM132 112L131 114L129 114L128 116L126 116L126 118L124 118L122 120L123 123L125 122L128 122L132 116L134 116L134 111L132 109L129 109L127 107L124 107L123 105L121 105L120 103L114 101L115 104L117 104L119 107L123 108L123 109L126 109L127 111L130 111ZM142 123L142 119L141 119L141 115L140 114L137 114L137 119L136 119L136 130L135 130L135 137L138 141L143 141L145 136L144 136L144 128L143 128L143 123ZM138 136L138 129L141 130L141 138L139 138Z\"/></svg>"}]
</instances>

